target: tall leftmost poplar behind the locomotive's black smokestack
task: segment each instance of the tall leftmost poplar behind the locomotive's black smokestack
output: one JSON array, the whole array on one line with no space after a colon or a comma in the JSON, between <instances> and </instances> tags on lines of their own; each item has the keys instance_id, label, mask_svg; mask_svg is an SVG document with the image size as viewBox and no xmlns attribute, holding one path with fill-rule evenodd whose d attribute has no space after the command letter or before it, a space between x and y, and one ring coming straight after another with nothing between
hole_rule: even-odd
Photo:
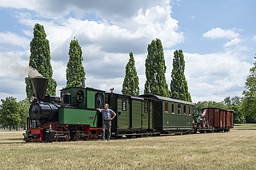
<instances>
[{"instance_id":1,"label":"tall leftmost poplar behind the locomotive's black smokestack","mask_svg":"<svg viewBox=\"0 0 256 170\"><path fill-rule=\"evenodd\" d=\"M40 24L34 25L34 38L30 42L30 62L31 68L38 70L42 76L49 79L46 94L56 96L57 83L53 79L53 69L50 65L50 44L46 39L46 32ZM33 92L30 77L25 78L26 97L30 98Z\"/></svg>"}]
</instances>

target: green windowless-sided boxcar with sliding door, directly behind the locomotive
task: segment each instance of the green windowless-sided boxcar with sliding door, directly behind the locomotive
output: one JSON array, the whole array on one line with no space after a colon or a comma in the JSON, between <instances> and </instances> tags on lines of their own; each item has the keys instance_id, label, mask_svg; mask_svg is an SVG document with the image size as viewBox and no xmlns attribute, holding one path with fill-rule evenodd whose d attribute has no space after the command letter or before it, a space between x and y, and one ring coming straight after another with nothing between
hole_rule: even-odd
<instances>
[{"instance_id":1,"label":"green windowless-sided boxcar with sliding door, directly behind the locomotive","mask_svg":"<svg viewBox=\"0 0 256 170\"><path fill-rule=\"evenodd\" d=\"M112 132L116 136L131 136L134 133L138 136L153 131L150 102L152 107L152 101L143 97L106 93L106 103L117 113L117 117L112 121Z\"/></svg>"}]
</instances>

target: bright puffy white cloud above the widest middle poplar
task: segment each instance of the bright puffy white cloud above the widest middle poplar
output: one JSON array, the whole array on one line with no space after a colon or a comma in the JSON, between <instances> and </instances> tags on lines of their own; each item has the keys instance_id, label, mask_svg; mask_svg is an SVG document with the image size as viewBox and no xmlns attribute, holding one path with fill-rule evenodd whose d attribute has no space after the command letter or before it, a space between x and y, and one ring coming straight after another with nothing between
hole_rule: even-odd
<instances>
[{"instance_id":1,"label":"bright puffy white cloud above the widest middle poplar","mask_svg":"<svg viewBox=\"0 0 256 170\"><path fill-rule=\"evenodd\" d=\"M178 32L178 21L170 17L170 9L154 6L145 13L138 11L134 18L137 34L150 39L160 38L166 48L183 42L183 33Z\"/></svg>"}]
</instances>

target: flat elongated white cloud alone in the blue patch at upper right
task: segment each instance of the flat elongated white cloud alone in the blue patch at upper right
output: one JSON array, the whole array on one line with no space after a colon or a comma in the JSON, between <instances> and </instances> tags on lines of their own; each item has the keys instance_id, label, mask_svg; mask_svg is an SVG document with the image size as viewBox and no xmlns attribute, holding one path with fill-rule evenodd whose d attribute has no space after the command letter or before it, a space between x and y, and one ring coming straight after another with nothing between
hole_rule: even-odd
<instances>
[{"instance_id":1,"label":"flat elongated white cloud alone in the blue patch at upper right","mask_svg":"<svg viewBox=\"0 0 256 170\"><path fill-rule=\"evenodd\" d=\"M208 32L202 34L203 38L238 38L239 34L234 32L233 30L222 30L221 28L213 28Z\"/></svg>"}]
</instances>

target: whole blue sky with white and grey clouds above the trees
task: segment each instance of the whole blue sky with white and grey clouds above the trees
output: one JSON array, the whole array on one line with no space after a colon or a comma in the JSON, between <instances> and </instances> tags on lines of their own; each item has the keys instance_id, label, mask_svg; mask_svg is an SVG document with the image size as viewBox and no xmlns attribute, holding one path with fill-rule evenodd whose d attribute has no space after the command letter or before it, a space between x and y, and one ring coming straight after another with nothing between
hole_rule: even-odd
<instances>
[{"instance_id":1,"label":"whole blue sky with white and grey clouds above the trees","mask_svg":"<svg viewBox=\"0 0 256 170\"><path fill-rule=\"evenodd\" d=\"M26 98L36 23L50 42L57 96L75 37L87 87L121 93L132 52L142 94L147 45L159 38L169 88L174 50L182 49L194 103L242 97L256 53L255 6L254 0L0 0L0 99Z\"/></svg>"}]
</instances>

